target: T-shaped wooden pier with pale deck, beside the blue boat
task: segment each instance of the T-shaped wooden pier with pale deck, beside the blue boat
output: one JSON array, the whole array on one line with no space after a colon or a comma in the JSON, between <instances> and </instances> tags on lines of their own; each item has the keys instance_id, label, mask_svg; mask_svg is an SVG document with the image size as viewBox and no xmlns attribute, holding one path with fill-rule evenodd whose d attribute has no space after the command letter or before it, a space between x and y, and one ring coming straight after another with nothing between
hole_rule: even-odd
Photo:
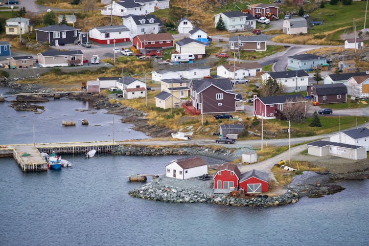
<instances>
[{"instance_id":1,"label":"T-shaped wooden pier with pale deck, beside the blue boat","mask_svg":"<svg viewBox=\"0 0 369 246\"><path fill-rule=\"evenodd\" d=\"M23 172L38 172L47 170L47 163L41 152L86 154L96 150L97 153L110 153L118 145L112 141L3 145L0 146L0 157L13 156Z\"/></svg>"}]
</instances>

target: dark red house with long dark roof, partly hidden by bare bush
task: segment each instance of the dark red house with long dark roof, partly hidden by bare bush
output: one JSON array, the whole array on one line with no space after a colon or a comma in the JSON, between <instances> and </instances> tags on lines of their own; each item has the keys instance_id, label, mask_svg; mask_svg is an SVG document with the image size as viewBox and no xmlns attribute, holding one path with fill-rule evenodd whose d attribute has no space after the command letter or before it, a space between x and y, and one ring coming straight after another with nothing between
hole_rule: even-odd
<instances>
[{"instance_id":1,"label":"dark red house with long dark roof, partly hidden by bare bush","mask_svg":"<svg viewBox=\"0 0 369 246\"><path fill-rule=\"evenodd\" d=\"M306 112L306 103L308 102L301 94L265 96L257 97L254 95L254 115L263 119L275 119L277 114L289 104L304 103Z\"/></svg>"}]
</instances>

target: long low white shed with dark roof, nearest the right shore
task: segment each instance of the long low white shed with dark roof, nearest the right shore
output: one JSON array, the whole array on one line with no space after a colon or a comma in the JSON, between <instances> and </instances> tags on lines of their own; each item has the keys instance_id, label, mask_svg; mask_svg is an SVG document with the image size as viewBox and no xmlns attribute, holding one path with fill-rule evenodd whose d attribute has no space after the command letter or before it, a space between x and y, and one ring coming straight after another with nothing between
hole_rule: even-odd
<instances>
[{"instance_id":1,"label":"long low white shed with dark roof, nearest the right shore","mask_svg":"<svg viewBox=\"0 0 369 246\"><path fill-rule=\"evenodd\" d=\"M307 150L309 155L318 157L330 155L352 160L367 158L367 150L365 147L323 140L308 143Z\"/></svg>"}]
</instances>

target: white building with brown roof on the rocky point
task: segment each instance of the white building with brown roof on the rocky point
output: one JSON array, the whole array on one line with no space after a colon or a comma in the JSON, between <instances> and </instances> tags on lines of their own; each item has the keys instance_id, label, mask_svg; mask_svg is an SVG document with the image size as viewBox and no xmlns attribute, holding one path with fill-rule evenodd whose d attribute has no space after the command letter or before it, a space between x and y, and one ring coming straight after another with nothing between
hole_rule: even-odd
<instances>
[{"instance_id":1,"label":"white building with brown roof on the rocky point","mask_svg":"<svg viewBox=\"0 0 369 246\"><path fill-rule=\"evenodd\" d=\"M175 179L189 179L208 173L208 162L201 157L172 160L166 165L165 176Z\"/></svg>"}]
</instances>

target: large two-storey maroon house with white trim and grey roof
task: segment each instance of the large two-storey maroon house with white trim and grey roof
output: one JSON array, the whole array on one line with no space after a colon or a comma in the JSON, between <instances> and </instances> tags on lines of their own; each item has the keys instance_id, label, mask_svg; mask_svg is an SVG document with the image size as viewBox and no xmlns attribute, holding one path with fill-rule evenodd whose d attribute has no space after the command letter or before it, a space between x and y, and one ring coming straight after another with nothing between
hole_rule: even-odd
<instances>
[{"instance_id":1,"label":"large two-storey maroon house with white trim and grey roof","mask_svg":"<svg viewBox=\"0 0 369 246\"><path fill-rule=\"evenodd\" d=\"M192 106L202 113L223 113L244 110L241 94L233 92L229 78L197 79L189 84Z\"/></svg>"}]
</instances>

